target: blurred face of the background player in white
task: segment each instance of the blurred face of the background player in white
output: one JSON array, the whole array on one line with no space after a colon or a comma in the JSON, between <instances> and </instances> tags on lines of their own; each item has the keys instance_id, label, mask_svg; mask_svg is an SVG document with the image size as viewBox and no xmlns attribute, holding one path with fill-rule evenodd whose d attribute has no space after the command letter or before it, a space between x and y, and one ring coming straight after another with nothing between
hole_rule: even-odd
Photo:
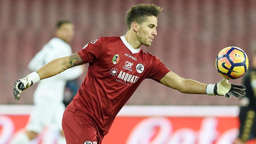
<instances>
[{"instance_id":1,"label":"blurred face of the background player in white","mask_svg":"<svg viewBox=\"0 0 256 144\"><path fill-rule=\"evenodd\" d=\"M74 37L74 25L70 23L62 24L57 30L57 37L70 43Z\"/></svg>"}]
</instances>

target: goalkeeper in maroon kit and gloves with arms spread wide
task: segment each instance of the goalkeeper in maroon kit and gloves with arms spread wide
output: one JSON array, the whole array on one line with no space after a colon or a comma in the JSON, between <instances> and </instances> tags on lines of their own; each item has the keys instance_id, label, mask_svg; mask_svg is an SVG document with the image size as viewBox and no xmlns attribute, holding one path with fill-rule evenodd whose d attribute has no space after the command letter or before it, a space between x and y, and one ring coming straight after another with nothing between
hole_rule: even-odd
<instances>
[{"instance_id":1,"label":"goalkeeper in maroon kit and gloves with arms spread wide","mask_svg":"<svg viewBox=\"0 0 256 144\"><path fill-rule=\"evenodd\" d=\"M182 93L239 97L245 87L223 79L204 84L171 72L156 56L145 53L157 35L157 17L162 8L153 4L132 6L126 15L127 33L121 37L100 37L78 53L49 62L38 71L16 81L15 99L21 91L77 65L89 63L88 72L63 115L67 144L100 144L113 120L140 83L150 78Z\"/></svg>"}]
</instances>

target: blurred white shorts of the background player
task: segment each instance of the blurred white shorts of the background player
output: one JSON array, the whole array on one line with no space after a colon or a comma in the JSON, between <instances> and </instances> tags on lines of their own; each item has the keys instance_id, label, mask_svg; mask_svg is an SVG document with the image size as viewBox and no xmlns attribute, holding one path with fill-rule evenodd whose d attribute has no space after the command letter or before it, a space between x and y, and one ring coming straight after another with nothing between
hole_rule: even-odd
<instances>
[{"instance_id":1,"label":"blurred white shorts of the background player","mask_svg":"<svg viewBox=\"0 0 256 144\"><path fill-rule=\"evenodd\" d=\"M40 133L45 126L50 126L55 130L62 130L61 121L65 106L63 103L40 103L35 104L30 114L26 130Z\"/></svg>"}]
</instances>

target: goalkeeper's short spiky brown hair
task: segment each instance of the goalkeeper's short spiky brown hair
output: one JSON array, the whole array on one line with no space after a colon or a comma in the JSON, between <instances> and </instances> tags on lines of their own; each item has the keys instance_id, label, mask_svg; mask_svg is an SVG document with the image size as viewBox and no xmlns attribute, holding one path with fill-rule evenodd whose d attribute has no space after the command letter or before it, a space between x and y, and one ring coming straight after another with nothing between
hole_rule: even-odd
<instances>
[{"instance_id":1,"label":"goalkeeper's short spiky brown hair","mask_svg":"<svg viewBox=\"0 0 256 144\"><path fill-rule=\"evenodd\" d=\"M158 17L163 8L154 4L140 3L132 6L126 14L125 22L127 30L131 29L131 24L137 22L141 24L147 20L147 16Z\"/></svg>"}]
</instances>

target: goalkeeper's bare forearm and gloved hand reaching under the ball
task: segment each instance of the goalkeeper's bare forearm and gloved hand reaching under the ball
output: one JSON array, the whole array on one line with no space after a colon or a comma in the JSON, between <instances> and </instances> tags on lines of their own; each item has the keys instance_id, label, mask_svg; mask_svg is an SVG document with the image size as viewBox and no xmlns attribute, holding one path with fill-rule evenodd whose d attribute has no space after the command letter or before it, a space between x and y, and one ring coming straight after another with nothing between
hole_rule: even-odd
<instances>
[{"instance_id":1,"label":"goalkeeper's bare forearm and gloved hand reaching under the ball","mask_svg":"<svg viewBox=\"0 0 256 144\"><path fill-rule=\"evenodd\" d=\"M168 72L160 82L182 93L223 95L227 99L231 96L238 98L241 95L245 95L244 86L231 84L227 79L223 79L216 84L207 85L192 79L184 79L173 72Z\"/></svg>"}]
</instances>

